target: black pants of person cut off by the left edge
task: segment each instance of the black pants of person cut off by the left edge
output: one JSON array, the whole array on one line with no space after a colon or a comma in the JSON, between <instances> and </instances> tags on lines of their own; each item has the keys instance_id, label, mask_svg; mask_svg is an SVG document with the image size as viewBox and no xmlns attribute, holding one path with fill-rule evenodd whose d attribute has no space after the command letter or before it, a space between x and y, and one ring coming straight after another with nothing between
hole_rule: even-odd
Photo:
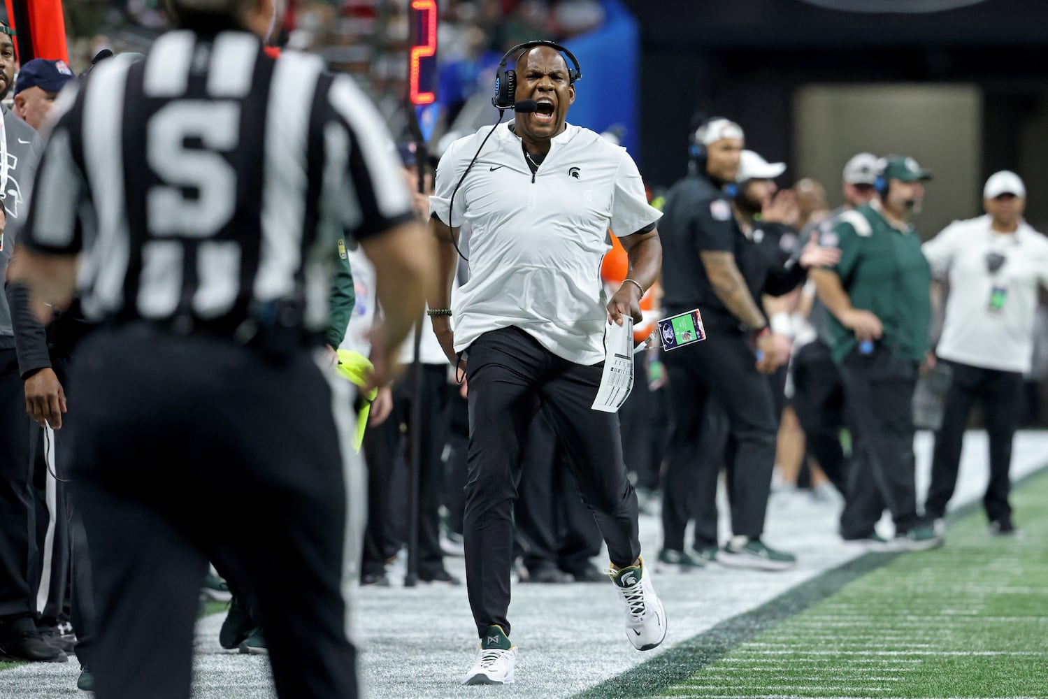
<instances>
[{"instance_id":1,"label":"black pants of person cut off by the left edge","mask_svg":"<svg viewBox=\"0 0 1048 699\"><path fill-rule=\"evenodd\" d=\"M0 617L36 614L29 556L36 545L25 383L14 348L0 349Z\"/></svg>"}]
</instances>

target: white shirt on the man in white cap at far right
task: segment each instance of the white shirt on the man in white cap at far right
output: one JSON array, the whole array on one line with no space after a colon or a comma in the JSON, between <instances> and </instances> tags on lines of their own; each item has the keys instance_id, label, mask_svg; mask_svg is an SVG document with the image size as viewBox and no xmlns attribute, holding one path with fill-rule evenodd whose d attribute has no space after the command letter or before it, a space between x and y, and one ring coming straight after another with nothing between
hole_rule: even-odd
<instances>
[{"instance_id":1,"label":"white shirt on the man in white cap at far right","mask_svg":"<svg viewBox=\"0 0 1048 699\"><path fill-rule=\"evenodd\" d=\"M1025 221L996 233L987 216L954 221L922 249L937 279L949 282L942 337L943 359L998 371L1027 372L1033 352L1038 286L1048 286L1048 238ZM1005 258L990 271L987 255ZM999 289L1000 309L990 299Z\"/></svg>"}]
</instances>

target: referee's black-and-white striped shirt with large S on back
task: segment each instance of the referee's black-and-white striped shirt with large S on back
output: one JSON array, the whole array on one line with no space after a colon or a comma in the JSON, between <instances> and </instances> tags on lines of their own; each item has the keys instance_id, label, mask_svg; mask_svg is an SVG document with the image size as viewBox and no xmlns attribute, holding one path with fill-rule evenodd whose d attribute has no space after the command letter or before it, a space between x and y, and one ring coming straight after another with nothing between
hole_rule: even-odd
<instances>
[{"instance_id":1,"label":"referee's black-and-white striped shirt with large S on back","mask_svg":"<svg viewBox=\"0 0 1048 699\"><path fill-rule=\"evenodd\" d=\"M335 241L411 218L367 95L253 35L172 31L92 71L61 114L21 240L83 253L89 320L237 327L276 303L327 321Z\"/></svg>"}]
</instances>

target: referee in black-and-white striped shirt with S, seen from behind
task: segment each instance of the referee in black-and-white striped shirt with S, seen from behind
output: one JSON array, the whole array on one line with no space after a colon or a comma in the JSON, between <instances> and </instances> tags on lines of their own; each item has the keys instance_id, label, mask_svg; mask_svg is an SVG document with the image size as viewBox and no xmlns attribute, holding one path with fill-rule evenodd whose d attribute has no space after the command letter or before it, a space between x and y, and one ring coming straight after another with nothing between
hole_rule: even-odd
<instances>
[{"instance_id":1,"label":"referee in black-and-white striped shirt with S, seen from behind","mask_svg":"<svg viewBox=\"0 0 1048 699\"><path fill-rule=\"evenodd\" d=\"M257 593L280 696L356 697L346 594L367 488L350 385L323 359L330 250L345 233L375 265L376 383L435 250L367 96L316 58L263 51L275 0L169 8L179 28L145 60L60 97L14 270L38 308L78 286L102 323L70 390L95 691L189 697L220 558Z\"/></svg>"}]
</instances>

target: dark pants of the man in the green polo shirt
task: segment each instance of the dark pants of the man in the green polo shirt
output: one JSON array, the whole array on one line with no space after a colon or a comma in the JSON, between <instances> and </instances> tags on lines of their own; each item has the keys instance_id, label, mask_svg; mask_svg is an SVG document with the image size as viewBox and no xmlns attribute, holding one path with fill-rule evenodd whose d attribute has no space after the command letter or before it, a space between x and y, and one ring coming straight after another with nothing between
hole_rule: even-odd
<instances>
[{"instance_id":1,"label":"dark pants of the man in the green polo shirt","mask_svg":"<svg viewBox=\"0 0 1048 699\"><path fill-rule=\"evenodd\" d=\"M921 523L914 483L913 395L917 363L877 347L840 365L852 425L852 467L840 536L861 539L887 507L897 534Z\"/></svg>"}]
</instances>

